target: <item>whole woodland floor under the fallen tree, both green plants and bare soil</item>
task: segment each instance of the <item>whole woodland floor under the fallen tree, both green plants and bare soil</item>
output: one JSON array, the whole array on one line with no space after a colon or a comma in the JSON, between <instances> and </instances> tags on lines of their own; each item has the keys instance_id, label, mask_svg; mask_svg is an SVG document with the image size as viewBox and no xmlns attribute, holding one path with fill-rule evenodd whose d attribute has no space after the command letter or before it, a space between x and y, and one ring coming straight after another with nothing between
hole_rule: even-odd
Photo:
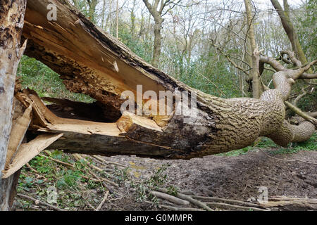
<instances>
[{"instance_id":1,"label":"whole woodland floor under the fallen tree, both green plants and bare soil","mask_svg":"<svg viewBox=\"0 0 317 225\"><path fill-rule=\"evenodd\" d=\"M67 157L70 158L71 155ZM194 195L244 202L250 201L252 197L258 198L260 186L268 188L268 197L317 198L316 150L297 150L292 153L280 148L254 147L239 155L210 155L192 160L153 160L135 156L103 158L125 165L126 168L115 167L116 172L111 178L120 186L108 184L111 195L101 210L162 210L157 204L150 203L153 199L145 191L149 186L161 186L170 190L176 188ZM104 198L105 189L98 185L89 186L89 181L80 181L80 184L76 183L79 187L70 187L72 185L66 181L65 174L58 176L63 171L62 168L54 169L56 176L41 178L40 173L45 175L46 171L43 171L45 167L39 167L39 161L40 158L37 158L37 162L30 162L38 174L28 168L23 169L18 193L45 201L47 186L57 184L58 207L66 210L94 210ZM113 165L104 165L96 159L91 162L100 168L114 168ZM42 182L38 182L39 180ZM58 185L62 180L69 185L67 188ZM159 204L168 205L168 202L160 199ZM20 197L16 198L15 207L16 210L50 210Z\"/></svg>"}]
</instances>

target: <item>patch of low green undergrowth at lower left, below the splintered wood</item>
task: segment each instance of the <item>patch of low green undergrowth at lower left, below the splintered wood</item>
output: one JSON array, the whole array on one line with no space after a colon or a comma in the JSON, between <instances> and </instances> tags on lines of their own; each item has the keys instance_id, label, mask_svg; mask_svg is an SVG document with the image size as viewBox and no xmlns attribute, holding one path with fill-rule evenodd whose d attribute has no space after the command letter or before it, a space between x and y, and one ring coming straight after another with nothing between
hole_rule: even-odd
<instances>
[{"instance_id":1,"label":"patch of low green undergrowth at lower left, below the splintered wood","mask_svg":"<svg viewBox=\"0 0 317 225\"><path fill-rule=\"evenodd\" d=\"M106 189L98 181L85 179L82 176L92 177L89 172L98 174L86 167L87 162L76 161L72 155L63 153L62 151L46 151L46 155L50 158L67 162L74 165L71 169L66 165L46 158L42 155L37 155L33 158L29 165L24 166L18 180L17 192L31 196L44 203L49 202L53 189L57 193L56 202L50 203L64 210L85 210L89 205L93 207L98 205L100 198L104 196ZM35 172L36 171L36 172ZM98 174L98 176L102 176ZM15 205L20 210L41 210L39 205L24 198L16 198ZM97 206L96 206L97 207ZM45 210L51 210L49 208ZM89 210L93 210L89 208Z\"/></svg>"}]
</instances>

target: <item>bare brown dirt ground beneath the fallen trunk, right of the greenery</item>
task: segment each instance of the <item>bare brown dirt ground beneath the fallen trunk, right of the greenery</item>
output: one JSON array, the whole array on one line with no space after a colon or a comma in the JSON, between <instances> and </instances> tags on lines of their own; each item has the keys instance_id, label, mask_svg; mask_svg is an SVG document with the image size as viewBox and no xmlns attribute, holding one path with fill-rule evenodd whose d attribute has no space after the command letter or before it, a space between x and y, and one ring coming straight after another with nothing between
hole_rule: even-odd
<instances>
[{"instance_id":1,"label":"bare brown dirt ground beneath the fallen trunk, right of the greenery","mask_svg":"<svg viewBox=\"0 0 317 225\"><path fill-rule=\"evenodd\" d=\"M211 155L192 160L153 160L135 156L105 159L128 165L136 180L148 179L157 168L170 165L166 169L166 186L173 185L179 191L191 191L195 195L248 201L258 198L259 187L265 186L268 197L317 198L317 151L273 155L271 149L254 149L245 155ZM105 204L102 210L158 210L149 203L135 202L135 193L127 190L122 188L124 197L115 204Z\"/></svg>"}]
</instances>

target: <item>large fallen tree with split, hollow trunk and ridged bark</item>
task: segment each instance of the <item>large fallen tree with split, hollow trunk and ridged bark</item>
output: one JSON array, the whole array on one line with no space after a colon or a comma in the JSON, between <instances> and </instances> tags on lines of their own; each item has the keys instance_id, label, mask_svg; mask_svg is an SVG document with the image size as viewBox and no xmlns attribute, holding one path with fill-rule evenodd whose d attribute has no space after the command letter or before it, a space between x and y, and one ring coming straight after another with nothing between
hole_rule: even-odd
<instances>
[{"instance_id":1,"label":"large fallen tree with split, hollow trunk and ridged bark","mask_svg":"<svg viewBox=\"0 0 317 225\"><path fill-rule=\"evenodd\" d=\"M47 6L51 3L57 9L56 20L47 18ZM76 115L74 118L68 110L54 113L54 108L44 105L35 91L22 91L16 85L15 98L25 109L32 109L31 122L26 126L28 143L13 148L6 160L3 177L11 176L23 166L25 158L32 158L30 155L34 156L44 148L90 155L189 159L244 148L259 136L267 136L278 145L287 146L290 142L306 141L315 131L314 118L297 125L287 122L284 101L290 96L296 79L316 77L306 74L316 60L299 65L295 70L278 65L278 72L273 75L275 89L264 91L260 99L225 99L194 90L145 63L67 1L28 0L22 35L22 41L27 40L27 56L42 61L57 72L68 90L87 94L96 102L44 99L61 108L70 108ZM271 58L260 57L257 49L253 57L259 61L260 70L263 63L272 66L275 63ZM137 89L140 84L142 91ZM186 108L187 111L178 115L175 99L170 109L168 101L160 105L153 94L151 99L143 96L144 91L154 91L159 96L159 91L173 93L175 90L195 96L197 108L194 112L192 108ZM172 110L173 113L151 114L149 108L143 115L121 113L121 105L125 102L121 98L123 91L143 96L143 101L135 101L137 109L157 105L158 108L164 106L163 112ZM25 148L26 145L29 148ZM15 155L24 160L23 163Z\"/></svg>"}]
</instances>

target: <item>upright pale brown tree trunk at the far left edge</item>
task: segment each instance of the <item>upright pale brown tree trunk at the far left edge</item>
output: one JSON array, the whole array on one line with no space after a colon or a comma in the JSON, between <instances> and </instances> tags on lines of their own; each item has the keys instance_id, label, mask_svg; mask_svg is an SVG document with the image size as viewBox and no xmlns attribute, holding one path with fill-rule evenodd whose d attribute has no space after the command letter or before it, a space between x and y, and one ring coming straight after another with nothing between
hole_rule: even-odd
<instances>
[{"instance_id":1,"label":"upright pale brown tree trunk at the far left edge","mask_svg":"<svg viewBox=\"0 0 317 225\"><path fill-rule=\"evenodd\" d=\"M23 55L20 37L26 0L0 2L0 175L6 164L8 142L13 117L13 93L18 63ZM15 195L18 172L7 179L0 178L0 210L8 210Z\"/></svg>"}]
</instances>

